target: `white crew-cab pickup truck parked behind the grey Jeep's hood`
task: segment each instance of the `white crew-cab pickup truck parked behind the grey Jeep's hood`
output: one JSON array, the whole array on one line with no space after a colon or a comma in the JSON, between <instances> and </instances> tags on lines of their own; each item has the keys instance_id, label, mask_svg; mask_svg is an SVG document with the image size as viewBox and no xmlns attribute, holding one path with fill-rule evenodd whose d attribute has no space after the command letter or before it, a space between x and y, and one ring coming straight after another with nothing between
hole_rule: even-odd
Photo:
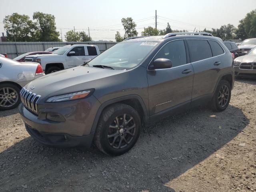
<instances>
[{"instance_id":1,"label":"white crew-cab pickup truck parked behind the grey Jeep's hood","mask_svg":"<svg viewBox=\"0 0 256 192\"><path fill-rule=\"evenodd\" d=\"M84 64L100 54L96 45L66 45L52 54L29 55L25 62L40 63L45 74Z\"/></svg>"}]
</instances>

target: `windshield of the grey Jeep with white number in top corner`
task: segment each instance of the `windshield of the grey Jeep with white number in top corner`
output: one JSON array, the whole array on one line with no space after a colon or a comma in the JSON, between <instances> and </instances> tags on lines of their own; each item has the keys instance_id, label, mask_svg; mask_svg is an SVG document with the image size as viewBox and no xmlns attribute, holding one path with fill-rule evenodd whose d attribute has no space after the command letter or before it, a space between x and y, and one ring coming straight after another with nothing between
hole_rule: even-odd
<instances>
[{"instance_id":1,"label":"windshield of the grey Jeep with white number in top corner","mask_svg":"<svg viewBox=\"0 0 256 192\"><path fill-rule=\"evenodd\" d=\"M93 60L89 66L104 65L118 70L129 70L138 66L158 42L121 42Z\"/></svg>"}]
</instances>

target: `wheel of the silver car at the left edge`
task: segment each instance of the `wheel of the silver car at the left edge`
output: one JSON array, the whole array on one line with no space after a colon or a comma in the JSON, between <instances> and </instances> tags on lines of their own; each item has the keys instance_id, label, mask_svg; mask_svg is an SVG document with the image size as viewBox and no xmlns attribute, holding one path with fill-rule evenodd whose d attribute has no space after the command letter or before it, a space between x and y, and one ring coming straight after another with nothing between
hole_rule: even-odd
<instances>
[{"instance_id":1,"label":"wheel of the silver car at the left edge","mask_svg":"<svg viewBox=\"0 0 256 192\"><path fill-rule=\"evenodd\" d=\"M14 109L20 104L20 88L11 83L0 84L0 110Z\"/></svg>"}]
</instances>

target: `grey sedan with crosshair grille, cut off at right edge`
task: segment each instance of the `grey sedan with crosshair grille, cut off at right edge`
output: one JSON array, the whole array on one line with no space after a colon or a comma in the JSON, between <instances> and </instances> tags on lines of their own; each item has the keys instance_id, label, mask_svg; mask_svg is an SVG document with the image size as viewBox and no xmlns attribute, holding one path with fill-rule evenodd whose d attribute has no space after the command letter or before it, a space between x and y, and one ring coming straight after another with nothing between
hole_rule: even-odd
<instances>
[{"instance_id":1,"label":"grey sedan with crosshair grille, cut off at right edge","mask_svg":"<svg viewBox=\"0 0 256 192\"><path fill-rule=\"evenodd\" d=\"M237 77L256 77L256 47L244 56L234 60L235 75Z\"/></svg>"}]
</instances>

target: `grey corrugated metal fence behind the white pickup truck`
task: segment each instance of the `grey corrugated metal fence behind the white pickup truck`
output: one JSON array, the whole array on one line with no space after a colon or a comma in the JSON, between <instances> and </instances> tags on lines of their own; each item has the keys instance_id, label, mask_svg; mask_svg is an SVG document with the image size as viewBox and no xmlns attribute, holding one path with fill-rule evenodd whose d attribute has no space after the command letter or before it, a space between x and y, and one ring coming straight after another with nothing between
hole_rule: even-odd
<instances>
[{"instance_id":1,"label":"grey corrugated metal fence behind the white pickup truck","mask_svg":"<svg viewBox=\"0 0 256 192\"><path fill-rule=\"evenodd\" d=\"M0 42L0 53L7 53L8 57L13 59L21 54L31 51L44 51L49 47L61 47L70 44L90 44L97 45L100 52L116 44L108 41L90 41L90 42Z\"/></svg>"}]
</instances>

